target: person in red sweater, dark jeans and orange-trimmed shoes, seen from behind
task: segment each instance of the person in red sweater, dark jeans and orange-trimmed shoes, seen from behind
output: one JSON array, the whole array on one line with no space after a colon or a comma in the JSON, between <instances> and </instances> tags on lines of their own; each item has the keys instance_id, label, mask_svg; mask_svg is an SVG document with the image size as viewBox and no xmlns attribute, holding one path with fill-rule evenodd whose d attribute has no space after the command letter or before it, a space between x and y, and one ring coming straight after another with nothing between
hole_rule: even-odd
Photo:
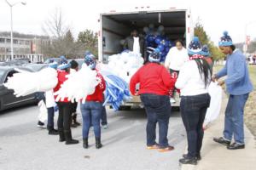
<instances>
[{"instance_id":1,"label":"person in red sweater, dark jeans and orange-trimmed shoes, seen from behind","mask_svg":"<svg viewBox=\"0 0 256 170\"><path fill-rule=\"evenodd\" d=\"M147 148L158 149L160 152L173 150L168 144L167 133L171 115L169 91L174 87L175 80L165 66L160 65L160 53L153 52L149 62L143 65L132 77L130 90L133 95L140 95L145 107L147 123ZM137 91L137 83L139 89ZM155 127L159 124L159 144L155 142Z\"/></svg>"}]
</instances>

